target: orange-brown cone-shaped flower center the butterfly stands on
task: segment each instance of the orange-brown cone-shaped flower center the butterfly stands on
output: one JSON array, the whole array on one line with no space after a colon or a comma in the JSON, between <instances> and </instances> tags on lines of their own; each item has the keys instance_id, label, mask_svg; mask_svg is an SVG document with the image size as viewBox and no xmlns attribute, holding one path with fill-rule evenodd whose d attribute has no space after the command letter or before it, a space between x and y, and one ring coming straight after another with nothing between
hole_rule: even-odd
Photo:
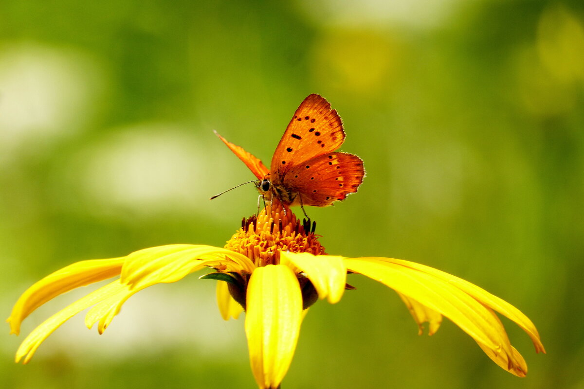
<instances>
[{"instance_id":1,"label":"orange-brown cone-shaped flower center the butterfly stands on","mask_svg":"<svg viewBox=\"0 0 584 389\"><path fill-rule=\"evenodd\" d=\"M225 248L248 257L256 266L280 263L280 251L325 254L314 233L316 222L301 223L290 208L273 198L258 216L241 221Z\"/></svg>"}]
</instances>

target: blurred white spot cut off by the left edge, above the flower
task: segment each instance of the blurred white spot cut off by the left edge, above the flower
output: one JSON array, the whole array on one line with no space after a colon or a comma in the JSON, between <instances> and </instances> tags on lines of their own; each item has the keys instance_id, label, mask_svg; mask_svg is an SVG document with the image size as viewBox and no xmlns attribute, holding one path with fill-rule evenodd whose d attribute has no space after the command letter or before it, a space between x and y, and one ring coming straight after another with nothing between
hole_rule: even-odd
<instances>
[{"instance_id":1,"label":"blurred white spot cut off by the left edge, above the flower","mask_svg":"<svg viewBox=\"0 0 584 389\"><path fill-rule=\"evenodd\" d=\"M0 158L34 153L81 128L103 75L80 51L14 44L0 55Z\"/></svg>"}]
</instances>

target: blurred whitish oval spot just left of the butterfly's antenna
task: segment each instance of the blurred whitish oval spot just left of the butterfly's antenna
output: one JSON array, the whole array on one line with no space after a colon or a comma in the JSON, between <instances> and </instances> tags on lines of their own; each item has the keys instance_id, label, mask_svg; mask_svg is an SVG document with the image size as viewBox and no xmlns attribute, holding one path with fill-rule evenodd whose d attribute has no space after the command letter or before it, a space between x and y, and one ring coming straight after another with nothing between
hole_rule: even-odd
<instances>
[{"instance_id":1,"label":"blurred whitish oval spot just left of the butterfly's antenna","mask_svg":"<svg viewBox=\"0 0 584 389\"><path fill-rule=\"evenodd\" d=\"M209 136L214 140L213 136ZM208 200L212 180L209 150L174 124L144 124L116 129L74 164L81 197L94 213L152 214L196 209Z\"/></svg>"}]
</instances>

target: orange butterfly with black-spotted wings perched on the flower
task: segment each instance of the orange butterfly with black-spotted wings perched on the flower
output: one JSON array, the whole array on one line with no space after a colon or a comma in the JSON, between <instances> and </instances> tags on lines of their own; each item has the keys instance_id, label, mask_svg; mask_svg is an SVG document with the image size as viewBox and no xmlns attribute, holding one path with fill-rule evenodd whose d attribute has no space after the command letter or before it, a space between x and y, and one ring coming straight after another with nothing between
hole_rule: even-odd
<instances>
[{"instance_id":1,"label":"orange butterfly with black-spotted wings perched on the flower","mask_svg":"<svg viewBox=\"0 0 584 389\"><path fill-rule=\"evenodd\" d=\"M365 175L359 157L333 152L345 141L343 123L318 94L304 99L294 113L269 170L251 153L217 136L258 178L256 187L263 198L276 197L287 206L331 205L356 192Z\"/></svg>"}]
</instances>

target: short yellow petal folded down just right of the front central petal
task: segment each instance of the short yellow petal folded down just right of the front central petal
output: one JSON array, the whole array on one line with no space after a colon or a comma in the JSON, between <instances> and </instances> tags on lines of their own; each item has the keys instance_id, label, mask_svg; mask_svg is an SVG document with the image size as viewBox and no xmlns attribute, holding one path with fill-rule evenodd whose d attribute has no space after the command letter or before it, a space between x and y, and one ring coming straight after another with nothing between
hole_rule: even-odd
<instances>
[{"instance_id":1,"label":"short yellow petal folded down just right of the front central petal","mask_svg":"<svg viewBox=\"0 0 584 389\"><path fill-rule=\"evenodd\" d=\"M347 268L343 257L337 255L312 255L309 253L280 253L280 264L300 269L317 289L318 297L328 297L329 303L339 302L345 292Z\"/></svg>"}]
</instances>

